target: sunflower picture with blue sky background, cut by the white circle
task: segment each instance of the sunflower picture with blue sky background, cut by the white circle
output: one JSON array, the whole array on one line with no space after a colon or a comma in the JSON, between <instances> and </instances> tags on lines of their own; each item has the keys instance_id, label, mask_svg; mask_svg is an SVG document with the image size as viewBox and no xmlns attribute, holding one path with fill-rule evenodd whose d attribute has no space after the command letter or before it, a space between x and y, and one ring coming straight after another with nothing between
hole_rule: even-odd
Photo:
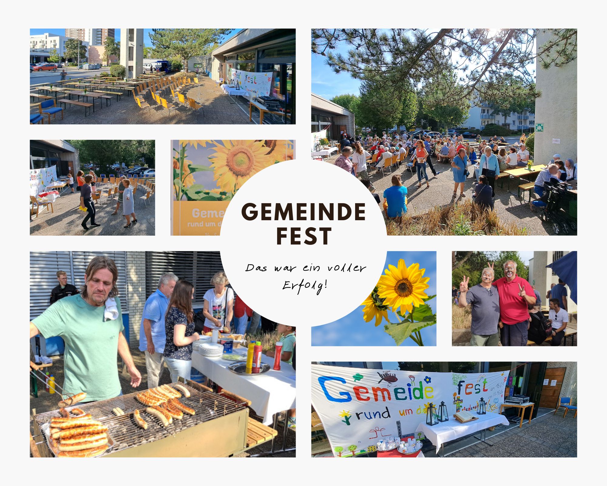
<instances>
[{"instance_id":1,"label":"sunflower picture with blue sky background, cut by the white circle","mask_svg":"<svg viewBox=\"0 0 607 486\"><path fill-rule=\"evenodd\" d=\"M313 327L312 346L436 346L436 252L387 252L368 297Z\"/></svg>"}]
</instances>

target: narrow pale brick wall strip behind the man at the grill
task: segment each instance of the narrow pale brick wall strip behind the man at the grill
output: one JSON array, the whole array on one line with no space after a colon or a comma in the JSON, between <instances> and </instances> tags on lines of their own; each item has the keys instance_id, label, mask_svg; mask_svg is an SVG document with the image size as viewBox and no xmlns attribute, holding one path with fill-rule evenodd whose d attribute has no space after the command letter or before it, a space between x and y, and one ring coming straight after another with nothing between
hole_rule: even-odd
<instances>
[{"instance_id":1,"label":"narrow pale brick wall strip behind the man at the grill","mask_svg":"<svg viewBox=\"0 0 607 486\"><path fill-rule=\"evenodd\" d=\"M146 252L126 253L126 285L129 298L129 332L131 347L139 346L139 326L146 303Z\"/></svg>"}]
</instances>

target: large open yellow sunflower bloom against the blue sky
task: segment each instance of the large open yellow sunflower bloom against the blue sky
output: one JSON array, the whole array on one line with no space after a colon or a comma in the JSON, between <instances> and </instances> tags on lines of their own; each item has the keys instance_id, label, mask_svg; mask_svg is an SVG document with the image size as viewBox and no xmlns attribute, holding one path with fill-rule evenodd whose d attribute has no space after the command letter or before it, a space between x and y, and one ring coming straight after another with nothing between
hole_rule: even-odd
<instances>
[{"instance_id":1,"label":"large open yellow sunflower bloom against the blue sky","mask_svg":"<svg viewBox=\"0 0 607 486\"><path fill-rule=\"evenodd\" d=\"M411 312L413 306L418 307L424 303L427 297L426 290L429 285L429 277L424 278L426 269L419 269L419 263L414 263L409 268L401 258L398 267L388 265L384 270L385 275L379 278L378 294L384 299L384 304L392 307L397 312L399 307L401 313Z\"/></svg>"}]
</instances>

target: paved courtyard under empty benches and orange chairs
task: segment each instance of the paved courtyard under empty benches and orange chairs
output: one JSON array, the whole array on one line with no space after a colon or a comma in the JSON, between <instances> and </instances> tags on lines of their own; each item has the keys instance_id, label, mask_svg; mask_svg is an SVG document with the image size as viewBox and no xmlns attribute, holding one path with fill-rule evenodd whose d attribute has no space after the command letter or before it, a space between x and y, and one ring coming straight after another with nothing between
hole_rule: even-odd
<instances>
[{"instance_id":1,"label":"paved courtyard under empty benches and orange chairs","mask_svg":"<svg viewBox=\"0 0 607 486\"><path fill-rule=\"evenodd\" d=\"M203 108L196 113L189 108L189 104L180 104L173 100L171 90L166 87L159 92L160 96L166 98L168 103L175 104L177 108L171 110L171 113L162 108L156 101L152 99L151 94L145 96L145 101L151 108L139 108L131 94L124 94L120 97L120 101L112 96L110 106L100 108L100 103L95 102L95 112L84 116L84 108L81 106L69 106L64 109L64 118L61 120L61 114L56 115L56 118L51 117L51 125L74 125L74 124L106 124L117 123L120 125L131 124L232 124L245 125L259 123L259 111L254 110L253 121L249 121L248 106L242 106L242 97L229 97L226 95L211 78L206 76L199 77L200 84L190 87L187 91L181 91L186 98L189 97L197 100L198 104L202 104ZM236 100L236 98L241 98ZM30 98L31 100L31 98ZM59 98L60 100L60 98ZM103 101L103 100L102 100ZM236 104L238 101L239 104ZM245 101L246 103L246 101ZM57 102L57 106L61 106ZM30 103L30 112L38 113L38 103Z\"/></svg>"}]
</instances>

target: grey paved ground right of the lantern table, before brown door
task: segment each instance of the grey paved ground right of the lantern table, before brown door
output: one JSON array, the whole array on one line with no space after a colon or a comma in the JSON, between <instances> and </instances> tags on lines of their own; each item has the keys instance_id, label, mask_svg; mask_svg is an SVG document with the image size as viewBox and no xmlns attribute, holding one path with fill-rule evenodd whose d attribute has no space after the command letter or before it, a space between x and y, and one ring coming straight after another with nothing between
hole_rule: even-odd
<instances>
[{"instance_id":1,"label":"grey paved ground right of the lantern table, before brown door","mask_svg":"<svg viewBox=\"0 0 607 486\"><path fill-rule=\"evenodd\" d=\"M572 411L563 418L563 411L489 437L492 446L478 442L447 457L577 457L577 418Z\"/></svg>"}]
</instances>

